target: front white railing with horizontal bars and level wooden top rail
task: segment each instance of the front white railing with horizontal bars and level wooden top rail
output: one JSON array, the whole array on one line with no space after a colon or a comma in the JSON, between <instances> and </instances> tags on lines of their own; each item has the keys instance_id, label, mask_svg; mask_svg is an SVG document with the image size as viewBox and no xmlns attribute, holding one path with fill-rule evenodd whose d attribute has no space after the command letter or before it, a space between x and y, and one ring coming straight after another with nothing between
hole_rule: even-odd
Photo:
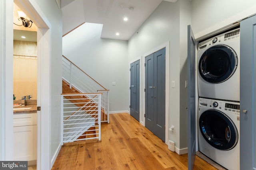
<instances>
[{"instance_id":1,"label":"front white railing with horizontal bars and level wooden top rail","mask_svg":"<svg viewBox=\"0 0 256 170\"><path fill-rule=\"evenodd\" d=\"M102 93L61 94L62 145L88 139L101 140L101 97Z\"/></svg>"}]
</instances>

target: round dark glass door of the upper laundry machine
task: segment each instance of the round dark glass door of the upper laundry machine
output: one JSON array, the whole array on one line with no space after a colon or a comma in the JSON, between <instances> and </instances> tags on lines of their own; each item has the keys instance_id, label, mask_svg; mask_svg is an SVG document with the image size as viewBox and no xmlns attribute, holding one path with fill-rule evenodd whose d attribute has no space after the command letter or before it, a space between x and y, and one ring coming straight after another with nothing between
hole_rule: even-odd
<instances>
[{"instance_id":1,"label":"round dark glass door of the upper laundry machine","mask_svg":"<svg viewBox=\"0 0 256 170\"><path fill-rule=\"evenodd\" d=\"M198 70L204 80L221 83L236 71L238 57L227 45L215 45L207 49L200 58Z\"/></svg>"}]
</instances>

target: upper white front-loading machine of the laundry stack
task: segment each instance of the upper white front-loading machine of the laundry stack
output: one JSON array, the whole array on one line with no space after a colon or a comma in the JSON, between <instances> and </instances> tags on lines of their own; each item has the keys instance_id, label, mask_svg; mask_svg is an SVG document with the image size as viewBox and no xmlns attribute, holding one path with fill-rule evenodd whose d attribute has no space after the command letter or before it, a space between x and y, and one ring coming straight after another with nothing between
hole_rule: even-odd
<instances>
[{"instance_id":1,"label":"upper white front-loading machine of the laundry stack","mask_svg":"<svg viewBox=\"0 0 256 170\"><path fill-rule=\"evenodd\" d=\"M198 95L240 101L240 29L198 44Z\"/></svg>"}]
</instances>

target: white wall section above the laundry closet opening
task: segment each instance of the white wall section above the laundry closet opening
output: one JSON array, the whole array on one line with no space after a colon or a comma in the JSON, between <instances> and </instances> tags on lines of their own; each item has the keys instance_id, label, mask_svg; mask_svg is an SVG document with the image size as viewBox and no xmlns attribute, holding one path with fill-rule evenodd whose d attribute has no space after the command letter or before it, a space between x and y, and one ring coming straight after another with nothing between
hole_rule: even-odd
<instances>
[{"instance_id":1,"label":"white wall section above the laundry closet opening","mask_svg":"<svg viewBox=\"0 0 256 170\"><path fill-rule=\"evenodd\" d=\"M195 38L256 14L255 9L255 0L192 0L191 25Z\"/></svg>"}]
</instances>

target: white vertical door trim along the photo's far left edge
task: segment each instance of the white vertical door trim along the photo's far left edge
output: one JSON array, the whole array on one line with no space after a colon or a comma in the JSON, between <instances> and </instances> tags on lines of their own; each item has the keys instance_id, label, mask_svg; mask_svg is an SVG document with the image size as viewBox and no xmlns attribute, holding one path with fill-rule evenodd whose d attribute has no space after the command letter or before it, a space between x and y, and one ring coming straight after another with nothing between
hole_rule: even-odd
<instances>
[{"instance_id":1,"label":"white vertical door trim along the photo's far left edge","mask_svg":"<svg viewBox=\"0 0 256 170\"><path fill-rule=\"evenodd\" d=\"M13 2L0 2L0 160L13 160Z\"/></svg>"}]
</instances>

